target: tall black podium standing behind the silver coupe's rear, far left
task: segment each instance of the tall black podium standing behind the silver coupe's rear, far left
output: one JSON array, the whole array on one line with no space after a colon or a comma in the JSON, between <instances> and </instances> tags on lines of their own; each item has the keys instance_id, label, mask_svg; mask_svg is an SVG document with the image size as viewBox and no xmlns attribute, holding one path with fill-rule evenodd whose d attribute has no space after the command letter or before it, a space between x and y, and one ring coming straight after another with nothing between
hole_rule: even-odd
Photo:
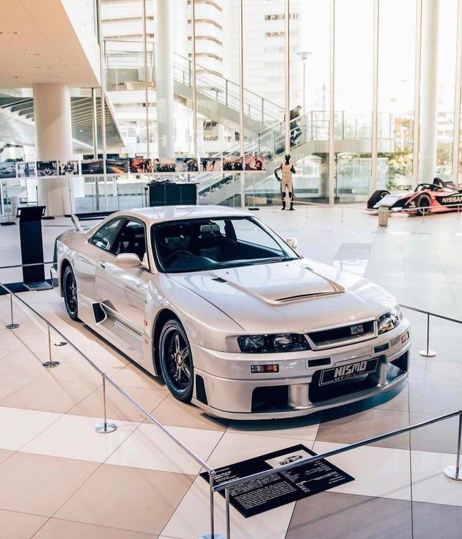
<instances>
[{"instance_id":1,"label":"tall black podium standing behind the silver coupe's rear, far left","mask_svg":"<svg viewBox=\"0 0 462 539\"><path fill-rule=\"evenodd\" d=\"M23 283L30 290L50 288L45 280L44 243L41 236L41 218L45 206L18 207L19 235L23 264L38 264L23 267Z\"/></svg>"}]
</instances>

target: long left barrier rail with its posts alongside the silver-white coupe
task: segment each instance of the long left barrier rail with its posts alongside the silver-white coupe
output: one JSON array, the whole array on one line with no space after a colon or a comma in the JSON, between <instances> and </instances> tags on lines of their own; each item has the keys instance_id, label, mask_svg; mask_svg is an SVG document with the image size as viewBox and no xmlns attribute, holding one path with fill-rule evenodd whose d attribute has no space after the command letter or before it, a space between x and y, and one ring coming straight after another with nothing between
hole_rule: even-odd
<instances>
[{"instance_id":1,"label":"long left barrier rail with its posts alongside the silver-white coupe","mask_svg":"<svg viewBox=\"0 0 462 539\"><path fill-rule=\"evenodd\" d=\"M15 327L18 327L18 325L15 325L14 323L14 320L13 320L13 297L15 298L16 301L19 301L20 304L22 304L23 306L27 307L27 309L30 309L30 311L32 311L32 313L34 313L35 316L37 316L40 320L44 321L46 323L46 327L47 327L47 331L48 331L48 337L49 337L49 362L48 365L45 365L44 366L54 366L54 364L58 364L58 362L52 360L52 357L51 357L51 340L50 340L50 329L53 329L54 332L56 332L56 334L59 336L59 337L62 337L65 342L67 342L71 348L76 351L80 356L82 356L82 358L84 358L84 360L89 363L91 365L91 367L94 368L94 370L96 370L100 375L101 377L103 378L103 393L104 393L104 397L105 397L105 380L107 380L113 387L115 387L115 389L117 389L117 391L120 392L120 394L124 395L128 401L130 401L134 406L136 406L136 408L138 408L144 415L146 415L146 417L148 417L148 419L150 419L157 427L160 428L160 430L164 433L164 434L167 434L167 436L169 437L169 439L171 439L172 441L174 441L174 443L177 444L177 446L179 446L182 450L184 450L185 453L187 453L191 458L193 458L193 460L195 460L195 462L198 463L198 465L200 465L201 467L203 467L205 470L207 470L207 472L213 476L213 472L214 470L209 466L207 465L207 462L204 462L200 457L198 457L198 455L196 455L191 449L189 449L187 446L184 445L184 443L182 443L179 439L177 439L176 436L174 436L174 434L172 434L168 429L166 429L162 423L160 423L158 420L155 419L155 417L153 417L153 415L151 415L148 410L146 410L146 408L143 408L143 406L141 404L139 404L137 401L134 400L134 398L132 398L129 394L127 394L126 391L124 391L124 389L122 389L122 387L120 387L116 382L114 382L114 380L109 377L108 375L106 375L106 373L101 370L98 365L96 365L93 361L91 361L91 359L86 356L86 354L84 354L81 350L79 350L77 348L77 346L75 346L75 344L73 344L69 339L68 337L66 337L65 335L63 335L63 333L58 330L58 328L53 325L49 320L47 320L44 316L42 316L36 309L34 309L34 307L30 306L30 304L27 303L27 301L24 301L23 298L19 297L18 294L16 294L15 292L13 292L13 290L11 290L10 288L8 288L6 285L4 285L3 283L0 283L0 287L3 288L4 290L6 290L6 292L8 292L8 294L10 294L10 301L11 301L11 324L13 325L12 329L15 328ZM107 417L106 417L106 410L105 410L105 398L104 398L104 426L108 424L107 422Z\"/></svg>"}]
</instances>

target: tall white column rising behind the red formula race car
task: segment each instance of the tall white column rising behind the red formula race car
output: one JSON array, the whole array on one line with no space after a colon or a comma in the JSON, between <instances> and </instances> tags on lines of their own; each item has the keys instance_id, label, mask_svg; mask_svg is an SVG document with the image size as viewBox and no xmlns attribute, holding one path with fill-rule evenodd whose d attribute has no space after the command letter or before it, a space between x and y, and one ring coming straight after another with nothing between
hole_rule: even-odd
<instances>
[{"instance_id":1,"label":"tall white column rising behind the red formula race car","mask_svg":"<svg viewBox=\"0 0 462 539\"><path fill-rule=\"evenodd\" d=\"M423 0L419 183L436 174L439 0Z\"/></svg>"}]
</instances>

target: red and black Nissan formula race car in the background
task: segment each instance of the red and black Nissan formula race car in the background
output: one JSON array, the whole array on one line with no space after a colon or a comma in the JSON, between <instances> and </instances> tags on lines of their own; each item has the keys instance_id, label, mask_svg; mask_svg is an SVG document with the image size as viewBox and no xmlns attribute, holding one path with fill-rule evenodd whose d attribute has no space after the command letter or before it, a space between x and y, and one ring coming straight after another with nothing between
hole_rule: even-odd
<instances>
[{"instance_id":1,"label":"red and black Nissan formula race car in the background","mask_svg":"<svg viewBox=\"0 0 462 539\"><path fill-rule=\"evenodd\" d=\"M393 193L379 189L367 201L367 209L387 206L393 211L407 210L418 215L451 212L462 207L462 190L452 182L435 178L433 183L419 183L415 190Z\"/></svg>"}]
</instances>

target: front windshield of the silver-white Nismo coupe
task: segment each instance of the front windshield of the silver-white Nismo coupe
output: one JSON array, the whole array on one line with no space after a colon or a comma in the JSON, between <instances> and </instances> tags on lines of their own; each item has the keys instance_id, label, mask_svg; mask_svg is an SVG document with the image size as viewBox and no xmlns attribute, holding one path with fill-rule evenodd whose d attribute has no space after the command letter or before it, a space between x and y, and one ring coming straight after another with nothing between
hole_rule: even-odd
<instances>
[{"instance_id":1,"label":"front windshield of the silver-white Nismo coupe","mask_svg":"<svg viewBox=\"0 0 462 539\"><path fill-rule=\"evenodd\" d=\"M294 260L296 254L252 217L185 219L152 228L160 271L182 273Z\"/></svg>"}]
</instances>

